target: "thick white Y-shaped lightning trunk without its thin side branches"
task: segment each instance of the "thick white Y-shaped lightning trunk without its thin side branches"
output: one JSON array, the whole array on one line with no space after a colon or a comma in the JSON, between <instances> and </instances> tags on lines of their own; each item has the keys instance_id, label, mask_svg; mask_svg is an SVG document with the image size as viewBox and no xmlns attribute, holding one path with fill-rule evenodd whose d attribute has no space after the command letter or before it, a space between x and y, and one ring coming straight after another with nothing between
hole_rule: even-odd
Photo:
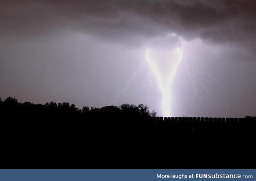
<instances>
[{"instance_id":1,"label":"thick white Y-shaped lightning trunk without its thin side branches","mask_svg":"<svg viewBox=\"0 0 256 181\"><path fill-rule=\"evenodd\" d=\"M154 76L157 79L157 85L158 88L160 89L160 92L162 94L162 111L163 111L163 116L170 116L170 110L171 110L171 87L172 83L174 80L174 77L176 75L178 65L180 64L182 60L182 51L179 47L176 49L176 62L174 63L172 69L170 70L170 75L167 77L167 80L164 80L164 76L162 76L161 72L158 69L158 65L156 65L156 62L154 62L152 59L149 57L149 51L147 49L146 51L146 61L148 62L150 66L150 70L154 74Z\"/></svg>"}]
</instances>

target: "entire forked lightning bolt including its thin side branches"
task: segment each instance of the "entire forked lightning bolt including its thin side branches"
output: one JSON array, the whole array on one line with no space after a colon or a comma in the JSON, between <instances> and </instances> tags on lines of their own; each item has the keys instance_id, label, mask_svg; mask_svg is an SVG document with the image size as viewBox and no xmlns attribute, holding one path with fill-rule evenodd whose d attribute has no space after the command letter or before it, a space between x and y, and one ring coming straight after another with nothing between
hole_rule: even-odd
<instances>
[{"instance_id":1,"label":"entire forked lightning bolt including its thin side branches","mask_svg":"<svg viewBox=\"0 0 256 181\"><path fill-rule=\"evenodd\" d=\"M140 89L138 89L137 91L134 91L133 93L140 91L143 87L150 86L150 91L148 92L148 95L147 95L147 98L146 98L146 101L148 101L150 93L153 89L152 84L151 84L152 81L150 79L151 73L153 73L154 77L156 77L156 80L157 80L157 86L158 86L158 88L159 88L159 90L162 94L162 100L160 101L159 110L162 109L163 116L170 116L171 115L170 111L172 110L172 106L171 106L171 102L172 102L171 87L172 87L172 84L173 84L173 81L174 81L174 77L177 73L178 66L179 66L179 64L182 60L184 61L185 65L186 65L188 78L190 79L190 81L192 82L192 84L194 86L194 92L197 96L197 105L199 105L200 98L201 98L198 94L198 88L199 88L198 87L198 82L199 82L199 86L202 87L205 90L206 94L214 100L215 98L213 96L211 96L207 87L202 82L202 81L209 81L209 80L203 79L203 78L200 78L196 75L191 75L190 74L188 63L187 63L186 59L184 58L184 56L182 54L182 50L180 49L179 46L177 46L175 53L176 53L177 56L176 56L176 60L174 61L174 65L171 67L170 74L169 74L169 76L164 77L162 75L162 73L160 72L160 70L158 69L158 65L156 64L156 62L153 61L150 58L149 50L147 48L146 49L146 61L144 61L140 64L138 71L136 71L133 74L133 76L129 79L128 85L126 85L126 87L120 93L118 93L115 100L110 105L112 105L114 102L116 102L118 97L128 89L128 87L130 86L130 84L131 84L132 80L134 79L134 77L136 76L136 74L138 74L141 71L142 65L144 63L148 63L149 68L150 68L150 71L149 71L149 74L148 74L148 77L147 77L148 78L148 83L143 85ZM212 75L210 75L210 73L201 73L201 74L207 75L208 77L210 77L211 82L215 82L218 85L221 85L221 83L217 79L212 77ZM198 81L195 81L194 79L198 79Z\"/></svg>"}]
</instances>

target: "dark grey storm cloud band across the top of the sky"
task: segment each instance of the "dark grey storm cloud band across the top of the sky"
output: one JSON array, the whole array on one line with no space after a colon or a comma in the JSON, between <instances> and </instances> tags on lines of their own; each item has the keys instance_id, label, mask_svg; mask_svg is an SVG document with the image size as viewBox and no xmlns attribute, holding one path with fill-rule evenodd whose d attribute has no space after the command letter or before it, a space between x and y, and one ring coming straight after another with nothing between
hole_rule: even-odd
<instances>
[{"instance_id":1,"label":"dark grey storm cloud band across the top of the sky","mask_svg":"<svg viewBox=\"0 0 256 181\"><path fill-rule=\"evenodd\" d=\"M250 45L256 35L255 10L253 0L9 0L1 2L0 31L75 30L114 41L175 32L186 39Z\"/></svg>"}]
</instances>

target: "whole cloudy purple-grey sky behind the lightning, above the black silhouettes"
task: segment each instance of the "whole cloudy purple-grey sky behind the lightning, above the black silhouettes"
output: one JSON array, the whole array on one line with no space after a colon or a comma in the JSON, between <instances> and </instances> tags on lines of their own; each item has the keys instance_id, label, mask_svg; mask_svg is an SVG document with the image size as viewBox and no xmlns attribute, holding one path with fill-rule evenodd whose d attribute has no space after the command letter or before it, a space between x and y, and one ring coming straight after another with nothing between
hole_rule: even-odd
<instances>
[{"instance_id":1,"label":"whole cloudy purple-grey sky behind the lightning, above the black silhouettes","mask_svg":"<svg viewBox=\"0 0 256 181\"><path fill-rule=\"evenodd\" d=\"M0 97L162 116L177 47L164 116L256 115L254 0L0 0Z\"/></svg>"}]
</instances>

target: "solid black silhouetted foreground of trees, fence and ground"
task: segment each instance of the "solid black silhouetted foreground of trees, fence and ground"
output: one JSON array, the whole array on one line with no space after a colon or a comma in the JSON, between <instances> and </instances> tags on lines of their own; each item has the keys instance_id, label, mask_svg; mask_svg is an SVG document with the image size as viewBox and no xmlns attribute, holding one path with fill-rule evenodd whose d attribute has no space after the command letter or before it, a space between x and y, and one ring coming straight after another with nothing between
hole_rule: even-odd
<instances>
[{"instance_id":1,"label":"solid black silhouetted foreground of trees, fence and ground","mask_svg":"<svg viewBox=\"0 0 256 181\"><path fill-rule=\"evenodd\" d=\"M2 168L255 168L256 117L0 99Z\"/></svg>"}]
</instances>

